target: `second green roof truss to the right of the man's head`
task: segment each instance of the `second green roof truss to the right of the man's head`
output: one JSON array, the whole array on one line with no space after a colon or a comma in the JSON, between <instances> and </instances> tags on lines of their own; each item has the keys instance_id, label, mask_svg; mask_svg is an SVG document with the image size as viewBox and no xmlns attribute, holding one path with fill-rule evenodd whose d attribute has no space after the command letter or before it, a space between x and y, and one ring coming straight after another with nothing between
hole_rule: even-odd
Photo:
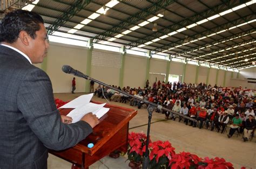
<instances>
[{"instance_id":1,"label":"second green roof truss to the right of the man's head","mask_svg":"<svg viewBox=\"0 0 256 169\"><path fill-rule=\"evenodd\" d=\"M114 33L125 29L127 26L130 26L131 24L136 23L139 20L144 19L145 17L151 15L151 13L156 13L161 8L164 8L165 6L168 6L175 1L176 0L158 0L156 3L153 3L148 8L142 9L141 11L134 13L134 15L122 21L118 25L114 25L111 29L93 37L93 43L98 43L100 40L105 40L107 37L111 37Z\"/></svg>"}]
</instances>

